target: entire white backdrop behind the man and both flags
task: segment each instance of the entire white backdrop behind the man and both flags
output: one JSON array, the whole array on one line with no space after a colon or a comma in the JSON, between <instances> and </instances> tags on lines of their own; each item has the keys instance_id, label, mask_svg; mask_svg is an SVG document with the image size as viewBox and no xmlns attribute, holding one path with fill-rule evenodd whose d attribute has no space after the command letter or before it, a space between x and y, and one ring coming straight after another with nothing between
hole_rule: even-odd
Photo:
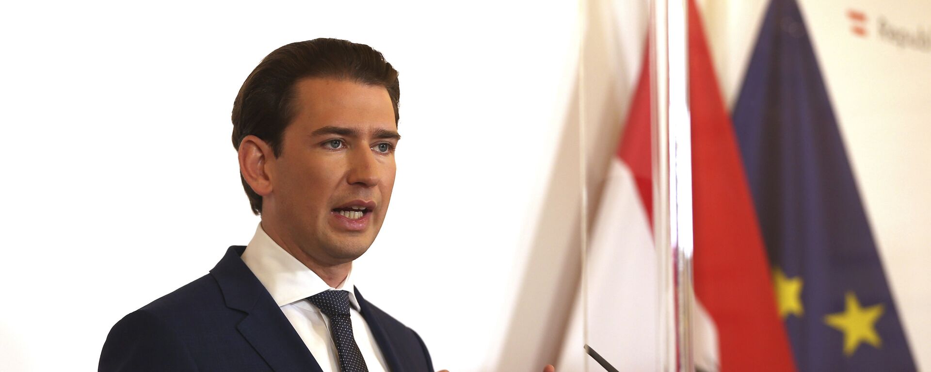
<instances>
[{"instance_id":1,"label":"entire white backdrop behind the man and both flags","mask_svg":"<svg viewBox=\"0 0 931 372\"><path fill-rule=\"evenodd\" d=\"M425 338L438 368L555 362L566 278L578 274L579 21L606 33L587 35L596 47L585 50L597 205L639 67L643 2L589 0L587 14L576 1L310 3L0 6L0 369L95 369L120 317L249 241L258 218L229 140L236 90L272 49L321 36L370 44L401 74L398 180L358 260L359 288ZM733 102L764 1L700 3ZM927 367L931 54L851 36L844 12L931 30L931 11L921 0L801 3Z\"/></svg>"}]
</instances>

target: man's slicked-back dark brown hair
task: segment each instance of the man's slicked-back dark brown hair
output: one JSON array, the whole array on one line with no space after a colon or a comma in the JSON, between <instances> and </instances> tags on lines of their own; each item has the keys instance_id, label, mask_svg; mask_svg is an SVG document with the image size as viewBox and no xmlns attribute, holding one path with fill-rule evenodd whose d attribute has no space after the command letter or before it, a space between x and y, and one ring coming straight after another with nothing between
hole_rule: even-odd
<instances>
[{"instance_id":1,"label":"man's slicked-back dark brown hair","mask_svg":"<svg viewBox=\"0 0 931 372\"><path fill-rule=\"evenodd\" d=\"M281 139L297 108L295 85L308 77L332 77L385 87L398 123L398 71L378 50L346 40L319 38L275 49L252 70L233 102L233 146L248 135L261 138L281 155ZM239 174L254 214L262 213L262 196Z\"/></svg>"}]
</instances>

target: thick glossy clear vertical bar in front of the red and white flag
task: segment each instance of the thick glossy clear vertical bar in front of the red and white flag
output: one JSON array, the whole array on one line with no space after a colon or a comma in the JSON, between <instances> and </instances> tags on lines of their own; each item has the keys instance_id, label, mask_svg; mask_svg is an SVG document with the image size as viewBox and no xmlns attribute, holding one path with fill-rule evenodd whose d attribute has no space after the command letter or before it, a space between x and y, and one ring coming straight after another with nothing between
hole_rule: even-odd
<instances>
[{"instance_id":1,"label":"thick glossy clear vertical bar in front of the red and white flag","mask_svg":"<svg viewBox=\"0 0 931 372\"><path fill-rule=\"evenodd\" d=\"M686 0L654 0L654 241L660 275L663 370L694 371L692 138Z\"/></svg>"}]
</instances>

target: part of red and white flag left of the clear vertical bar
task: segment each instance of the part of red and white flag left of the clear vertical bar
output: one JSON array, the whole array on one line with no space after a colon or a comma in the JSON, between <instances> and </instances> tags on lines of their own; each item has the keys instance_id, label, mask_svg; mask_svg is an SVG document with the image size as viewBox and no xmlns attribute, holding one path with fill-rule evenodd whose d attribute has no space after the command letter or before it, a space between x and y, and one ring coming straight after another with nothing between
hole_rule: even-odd
<instances>
[{"instance_id":1,"label":"part of red and white flag left of the clear vertical bar","mask_svg":"<svg viewBox=\"0 0 931 372\"><path fill-rule=\"evenodd\" d=\"M558 371L599 371L582 352L588 344L622 371L659 369L659 285L651 227L653 168L650 147L650 75L644 53L641 75L622 141L609 162L587 254L586 306L576 301ZM581 297L580 297L581 299ZM583 311L585 311L583 313Z\"/></svg>"}]
</instances>

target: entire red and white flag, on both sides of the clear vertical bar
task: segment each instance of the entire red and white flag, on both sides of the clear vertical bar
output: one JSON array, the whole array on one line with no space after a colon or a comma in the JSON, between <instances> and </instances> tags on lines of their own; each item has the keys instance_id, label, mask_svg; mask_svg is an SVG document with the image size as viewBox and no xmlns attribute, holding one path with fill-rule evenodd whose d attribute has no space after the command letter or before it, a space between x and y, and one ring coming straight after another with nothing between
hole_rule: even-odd
<instances>
[{"instance_id":1,"label":"entire red and white flag, on both sides of the clear vertical bar","mask_svg":"<svg viewBox=\"0 0 931 372\"><path fill-rule=\"evenodd\" d=\"M689 18L695 366L704 371L792 371L760 228L694 1L689 2ZM580 352L584 343L619 370L662 367L646 53L643 60L593 221L587 291L582 294L587 308L576 306L570 322L581 328L586 315L587 339L575 335L566 340L560 371L581 370L584 364L588 371L601 370Z\"/></svg>"}]
</instances>

